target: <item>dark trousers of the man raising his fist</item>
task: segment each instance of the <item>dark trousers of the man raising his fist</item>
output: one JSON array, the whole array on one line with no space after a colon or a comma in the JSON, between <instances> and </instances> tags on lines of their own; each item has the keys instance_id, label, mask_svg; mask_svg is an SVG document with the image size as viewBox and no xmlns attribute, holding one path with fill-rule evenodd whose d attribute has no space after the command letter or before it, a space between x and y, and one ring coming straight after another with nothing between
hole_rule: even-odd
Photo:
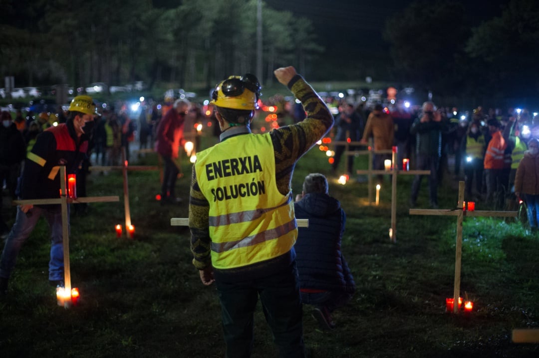
<instances>
[{"instance_id":1,"label":"dark trousers of the man raising his fist","mask_svg":"<svg viewBox=\"0 0 539 358\"><path fill-rule=\"evenodd\" d=\"M222 309L227 358L251 356L258 296L279 348L279 356L303 357L302 307L295 262L271 276L245 282L217 280L215 283Z\"/></svg>"}]
</instances>

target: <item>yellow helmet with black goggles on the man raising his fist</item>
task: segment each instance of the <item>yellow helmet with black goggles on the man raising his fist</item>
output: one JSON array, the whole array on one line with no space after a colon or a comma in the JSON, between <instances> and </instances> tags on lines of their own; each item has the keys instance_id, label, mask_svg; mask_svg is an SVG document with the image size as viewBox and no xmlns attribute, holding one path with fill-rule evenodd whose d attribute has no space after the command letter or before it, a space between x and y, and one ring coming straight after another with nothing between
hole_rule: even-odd
<instances>
[{"instance_id":1,"label":"yellow helmet with black goggles on the man raising his fist","mask_svg":"<svg viewBox=\"0 0 539 358\"><path fill-rule=\"evenodd\" d=\"M221 81L213 90L211 104L237 110L258 109L258 97L262 89L256 76L230 76Z\"/></svg>"}]
</instances>

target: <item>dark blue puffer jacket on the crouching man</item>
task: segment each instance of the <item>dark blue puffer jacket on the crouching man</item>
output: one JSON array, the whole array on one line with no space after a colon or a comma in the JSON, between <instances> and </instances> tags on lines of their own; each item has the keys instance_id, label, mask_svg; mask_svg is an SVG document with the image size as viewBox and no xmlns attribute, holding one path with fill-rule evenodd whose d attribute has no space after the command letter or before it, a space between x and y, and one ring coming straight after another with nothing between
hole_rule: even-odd
<instances>
[{"instance_id":1,"label":"dark blue puffer jacket on the crouching man","mask_svg":"<svg viewBox=\"0 0 539 358\"><path fill-rule=\"evenodd\" d=\"M337 199L306 194L294 203L295 216L309 219L300 227L294 246L300 287L354 293L356 285L341 253L346 214Z\"/></svg>"}]
</instances>

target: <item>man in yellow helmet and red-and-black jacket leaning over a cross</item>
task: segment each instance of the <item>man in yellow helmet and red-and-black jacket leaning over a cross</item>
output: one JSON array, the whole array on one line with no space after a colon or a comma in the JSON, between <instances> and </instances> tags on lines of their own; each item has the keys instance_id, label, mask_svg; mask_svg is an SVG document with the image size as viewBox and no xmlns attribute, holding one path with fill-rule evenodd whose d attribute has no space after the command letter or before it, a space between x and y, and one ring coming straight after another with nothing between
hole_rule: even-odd
<instances>
[{"instance_id":1,"label":"man in yellow helmet and red-and-black jacket leaning over a cross","mask_svg":"<svg viewBox=\"0 0 539 358\"><path fill-rule=\"evenodd\" d=\"M66 123L40 133L27 154L18 194L21 199L57 198L60 192L60 166L66 174L76 174L87 155L88 137L95 114L92 97L77 96L71 101ZM64 245L61 207L24 204L17 206L15 224L5 241L0 258L0 295L8 290L8 280L24 241L43 216L51 228L49 282L53 287L64 284Z\"/></svg>"}]
</instances>

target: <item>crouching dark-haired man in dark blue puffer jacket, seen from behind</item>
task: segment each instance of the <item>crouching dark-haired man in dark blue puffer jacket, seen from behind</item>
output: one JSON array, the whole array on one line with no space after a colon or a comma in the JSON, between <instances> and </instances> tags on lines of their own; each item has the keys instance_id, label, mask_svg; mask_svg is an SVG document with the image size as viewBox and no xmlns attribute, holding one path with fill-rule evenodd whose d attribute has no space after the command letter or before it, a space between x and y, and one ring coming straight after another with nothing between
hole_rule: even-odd
<instances>
[{"instance_id":1,"label":"crouching dark-haired man in dark blue puffer jacket, seen from behind","mask_svg":"<svg viewBox=\"0 0 539 358\"><path fill-rule=\"evenodd\" d=\"M313 317L321 328L331 330L335 327L331 312L346 304L356 290L341 253L346 214L341 203L328 195L328 181L320 173L305 177L294 211L296 218L309 219L309 227L298 228L294 245L301 300L314 305Z\"/></svg>"}]
</instances>

